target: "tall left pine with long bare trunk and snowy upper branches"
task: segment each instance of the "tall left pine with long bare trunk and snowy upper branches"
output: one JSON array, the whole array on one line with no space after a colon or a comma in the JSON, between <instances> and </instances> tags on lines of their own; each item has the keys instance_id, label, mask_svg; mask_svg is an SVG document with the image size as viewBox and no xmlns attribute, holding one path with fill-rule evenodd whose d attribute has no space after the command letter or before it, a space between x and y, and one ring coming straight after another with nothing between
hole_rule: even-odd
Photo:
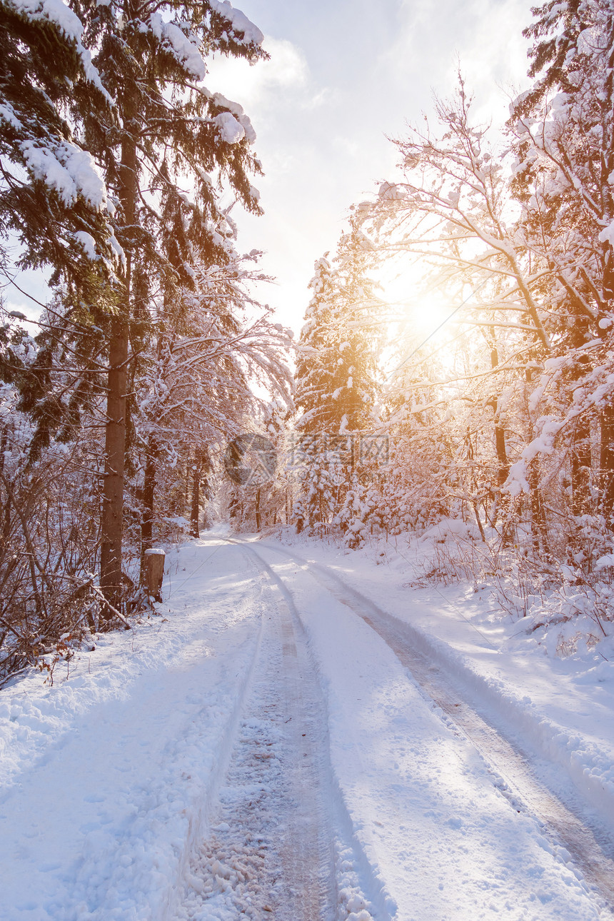
<instances>
[{"instance_id":1,"label":"tall left pine with long bare trunk and snowy upper branches","mask_svg":"<svg viewBox=\"0 0 614 921\"><path fill-rule=\"evenodd\" d=\"M240 106L203 87L203 57L218 52L254 62L265 55L261 32L240 11L218 0L105 5L74 0L74 6L85 24L83 41L96 52L94 64L113 104L114 117L100 121L88 117L82 100L76 100L85 113L87 147L104 167L118 207L116 232L125 253L108 344L100 558L101 586L117 608L126 393L152 286L189 276L190 265L182 260L191 251L205 260L224 260L224 240L216 230L223 216L212 173L227 181L250 211L260 210L248 179L248 171L260 171L249 149L253 129Z\"/></svg>"}]
</instances>

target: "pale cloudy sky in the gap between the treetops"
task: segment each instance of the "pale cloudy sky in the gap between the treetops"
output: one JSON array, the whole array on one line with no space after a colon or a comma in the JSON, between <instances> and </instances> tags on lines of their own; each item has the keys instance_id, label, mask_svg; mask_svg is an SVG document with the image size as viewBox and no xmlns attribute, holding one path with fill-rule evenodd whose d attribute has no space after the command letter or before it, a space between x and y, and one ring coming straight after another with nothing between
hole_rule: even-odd
<instances>
[{"instance_id":1,"label":"pale cloudy sky in the gap between the treetops","mask_svg":"<svg viewBox=\"0 0 614 921\"><path fill-rule=\"evenodd\" d=\"M526 0L237 0L271 59L216 61L208 86L243 105L265 177L264 216L235 215L241 248L278 279L261 299L299 332L313 263L349 207L394 176L408 122L450 95L458 64L481 121L503 123L527 85Z\"/></svg>"}]
</instances>

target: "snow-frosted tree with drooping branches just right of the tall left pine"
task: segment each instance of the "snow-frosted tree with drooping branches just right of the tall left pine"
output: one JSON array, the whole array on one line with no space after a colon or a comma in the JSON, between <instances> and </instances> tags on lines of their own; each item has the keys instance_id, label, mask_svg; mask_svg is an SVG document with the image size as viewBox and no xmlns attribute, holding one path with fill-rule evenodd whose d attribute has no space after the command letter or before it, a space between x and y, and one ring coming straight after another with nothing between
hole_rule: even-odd
<instances>
[{"instance_id":1,"label":"snow-frosted tree with drooping branches just right of the tall left pine","mask_svg":"<svg viewBox=\"0 0 614 921\"><path fill-rule=\"evenodd\" d=\"M198 536L201 475L251 425L249 413L258 406L253 382L290 399L288 333L249 296L249 284L265 279L255 259L234 253L224 265L194 263L191 289L160 305L137 380L144 550L156 520L160 468L172 461L191 469L191 528Z\"/></svg>"}]
</instances>

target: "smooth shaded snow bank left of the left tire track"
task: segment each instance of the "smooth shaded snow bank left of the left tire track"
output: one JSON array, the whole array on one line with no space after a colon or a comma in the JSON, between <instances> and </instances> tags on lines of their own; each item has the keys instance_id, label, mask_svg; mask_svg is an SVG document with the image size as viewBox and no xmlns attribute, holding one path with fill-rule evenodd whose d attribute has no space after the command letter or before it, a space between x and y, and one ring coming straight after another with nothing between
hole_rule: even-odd
<instances>
[{"instance_id":1,"label":"smooth shaded snow bank left of the left tire track","mask_svg":"<svg viewBox=\"0 0 614 921\"><path fill-rule=\"evenodd\" d=\"M0 694L0 914L11 921L172 910L225 774L261 614L249 581L224 586L207 548L174 562L166 621L98 636L51 687L34 674Z\"/></svg>"}]
</instances>

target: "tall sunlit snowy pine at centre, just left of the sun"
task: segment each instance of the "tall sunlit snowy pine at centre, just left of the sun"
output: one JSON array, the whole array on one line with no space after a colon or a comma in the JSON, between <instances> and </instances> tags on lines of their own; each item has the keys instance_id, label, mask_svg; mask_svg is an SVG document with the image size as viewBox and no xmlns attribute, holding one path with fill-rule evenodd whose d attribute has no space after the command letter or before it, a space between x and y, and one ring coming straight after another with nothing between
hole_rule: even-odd
<instances>
[{"instance_id":1,"label":"tall sunlit snowy pine at centre, just left of the sun","mask_svg":"<svg viewBox=\"0 0 614 921\"><path fill-rule=\"evenodd\" d=\"M377 395L379 327L372 248L354 218L334 262L315 263L297 346L296 457L310 524L334 518L359 459Z\"/></svg>"}]
</instances>

